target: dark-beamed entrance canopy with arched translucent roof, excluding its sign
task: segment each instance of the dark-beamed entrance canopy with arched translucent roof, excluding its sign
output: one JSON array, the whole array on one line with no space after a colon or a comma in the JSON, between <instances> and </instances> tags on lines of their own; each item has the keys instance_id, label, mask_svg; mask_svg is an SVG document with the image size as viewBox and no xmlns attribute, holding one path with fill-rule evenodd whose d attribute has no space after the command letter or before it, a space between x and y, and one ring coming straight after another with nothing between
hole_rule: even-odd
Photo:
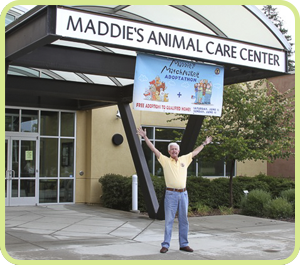
<instances>
[{"instance_id":1,"label":"dark-beamed entrance canopy with arched translucent roof, excluding its sign","mask_svg":"<svg viewBox=\"0 0 300 265\"><path fill-rule=\"evenodd\" d=\"M99 19L121 19L170 32L199 34L216 38L214 40L220 40L220 43L229 40L230 43L269 49L274 54L284 52L286 55L291 49L285 37L255 6L37 6L6 27L6 62L10 66L6 105L78 110L131 102L135 57L140 51L224 65L225 84L287 72L286 67L284 71L274 71L254 64L215 61L201 54L176 54L58 34L58 11L61 10ZM78 20L73 22L74 29L79 27L75 25ZM91 31L93 27L87 24L86 30ZM76 28L76 33L78 30ZM21 96L16 98L15 93Z\"/></svg>"}]
</instances>

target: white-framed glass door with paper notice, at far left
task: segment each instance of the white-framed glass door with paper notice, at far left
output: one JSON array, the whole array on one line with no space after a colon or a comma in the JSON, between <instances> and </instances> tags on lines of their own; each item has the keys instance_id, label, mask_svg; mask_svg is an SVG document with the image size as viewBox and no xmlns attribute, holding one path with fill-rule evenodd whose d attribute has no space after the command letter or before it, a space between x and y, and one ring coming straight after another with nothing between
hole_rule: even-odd
<instances>
[{"instance_id":1,"label":"white-framed glass door with paper notice, at far left","mask_svg":"<svg viewBox=\"0 0 300 265\"><path fill-rule=\"evenodd\" d=\"M5 138L5 205L37 203L37 150L35 137Z\"/></svg>"}]
</instances>

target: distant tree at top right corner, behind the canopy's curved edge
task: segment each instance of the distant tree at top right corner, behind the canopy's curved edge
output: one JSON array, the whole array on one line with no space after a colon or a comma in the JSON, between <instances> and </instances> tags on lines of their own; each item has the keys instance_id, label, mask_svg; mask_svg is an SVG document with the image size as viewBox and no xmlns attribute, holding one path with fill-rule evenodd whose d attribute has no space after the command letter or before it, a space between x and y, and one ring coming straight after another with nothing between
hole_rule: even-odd
<instances>
[{"instance_id":1,"label":"distant tree at top right corner, behind the canopy's curved edge","mask_svg":"<svg viewBox=\"0 0 300 265\"><path fill-rule=\"evenodd\" d=\"M294 43L291 42L292 36L288 35L288 30L284 28L283 21L281 17L279 16L279 13L277 11L276 7L273 7L272 5L266 5L263 6L262 11L264 14L273 22L273 24L279 29L279 31L282 33L282 35L286 38L286 40L290 43L291 47L294 46ZM295 61L291 59L291 56L293 55L293 51L288 51L288 70L289 71L295 71Z\"/></svg>"}]
</instances>

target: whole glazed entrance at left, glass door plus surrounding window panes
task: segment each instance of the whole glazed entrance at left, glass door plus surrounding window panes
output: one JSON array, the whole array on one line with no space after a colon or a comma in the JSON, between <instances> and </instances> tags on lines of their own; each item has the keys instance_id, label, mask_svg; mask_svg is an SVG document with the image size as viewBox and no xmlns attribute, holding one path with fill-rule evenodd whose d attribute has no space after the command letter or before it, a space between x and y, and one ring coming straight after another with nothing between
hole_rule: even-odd
<instances>
[{"instance_id":1,"label":"whole glazed entrance at left, glass door plus surrounding window panes","mask_svg":"<svg viewBox=\"0 0 300 265\"><path fill-rule=\"evenodd\" d=\"M5 109L5 205L74 203L76 113Z\"/></svg>"}]
</instances>

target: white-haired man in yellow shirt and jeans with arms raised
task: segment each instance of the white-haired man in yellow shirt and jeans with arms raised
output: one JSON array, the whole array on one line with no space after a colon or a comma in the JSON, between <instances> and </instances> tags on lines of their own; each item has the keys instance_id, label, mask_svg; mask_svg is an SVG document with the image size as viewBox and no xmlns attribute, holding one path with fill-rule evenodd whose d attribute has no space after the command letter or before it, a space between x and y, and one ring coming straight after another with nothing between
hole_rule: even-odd
<instances>
[{"instance_id":1,"label":"white-haired man in yellow shirt and jeans with arms raised","mask_svg":"<svg viewBox=\"0 0 300 265\"><path fill-rule=\"evenodd\" d=\"M187 213L189 201L186 190L187 168L192 162L193 157L198 155L204 146L212 141L212 138L207 137L206 140L193 152L183 156L179 156L179 145L176 143L170 143L168 146L170 157L167 157L158 151L150 142L146 134L146 129L143 130L142 128L138 128L137 134L145 139L147 146L155 154L157 160L162 165L164 170L164 177L167 187L164 201L165 235L164 242L161 244L162 248L160 253L166 253L169 250L173 223L177 211L179 225L179 249L182 251L193 252L193 249L191 249L188 245L189 222Z\"/></svg>"}]
</instances>

